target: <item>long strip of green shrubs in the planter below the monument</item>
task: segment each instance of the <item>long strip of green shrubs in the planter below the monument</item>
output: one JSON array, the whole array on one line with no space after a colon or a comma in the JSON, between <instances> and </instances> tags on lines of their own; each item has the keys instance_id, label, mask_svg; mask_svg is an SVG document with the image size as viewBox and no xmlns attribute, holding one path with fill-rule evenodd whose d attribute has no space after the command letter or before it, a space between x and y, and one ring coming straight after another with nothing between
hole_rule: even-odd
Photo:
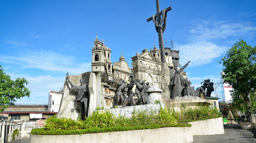
<instances>
[{"instance_id":1,"label":"long strip of green shrubs in the planter below the monument","mask_svg":"<svg viewBox=\"0 0 256 143\"><path fill-rule=\"evenodd\" d=\"M217 109L205 106L199 106L194 109L186 109L184 107L181 112L163 108L158 113L134 111L130 119L124 116L114 118L110 111L94 111L89 117L86 117L86 120L76 121L67 118L57 118L56 116L48 118L45 120L43 129L33 129L31 134L68 135L163 127L190 127L190 124L180 124L178 122L191 122L217 117L220 117Z\"/></svg>"}]
</instances>

